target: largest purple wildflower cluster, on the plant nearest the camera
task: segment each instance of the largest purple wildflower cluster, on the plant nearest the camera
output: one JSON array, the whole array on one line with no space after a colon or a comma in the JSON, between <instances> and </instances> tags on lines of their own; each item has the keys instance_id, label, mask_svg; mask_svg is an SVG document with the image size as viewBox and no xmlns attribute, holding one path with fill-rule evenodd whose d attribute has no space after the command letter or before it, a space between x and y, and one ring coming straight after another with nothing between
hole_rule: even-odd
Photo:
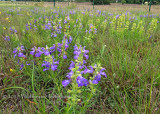
<instances>
[{"instance_id":1,"label":"largest purple wildflower cluster, on the plant nearest the camera","mask_svg":"<svg viewBox=\"0 0 160 114\"><path fill-rule=\"evenodd\" d=\"M64 87L66 87L67 85L69 85L74 76L77 75L76 72L80 72L77 77L76 77L76 82L78 84L78 87L82 87L82 86L87 86L89 85L89 82L92 84L98 84L98 82L101 80L101 76L105 76L107 77L106 73L103 72L105 69L104 68L100 68L100 71L97 72L97 69L99 69L99 67L97 67L97 65L93 66L89 66L89 68L87 68L87 66L85 65L87 62L85 60L83 60L83 62L77 62L79 60L79 58L81 58L81 56L85 57L86 59L88 59L88 50L85 50L85 47L78 47L77 45L74 46L74 59L76 62L71 61L71 64L69 66L69 70L70 72L67 73L67 80L63 80L62 81L62 85ZM78 67L78 70L75 71L75 69ZM86 78L84 78L82 75L85 74L92 74L94 75L93 80L88 80Z\"/></svg>"}]
</instances>

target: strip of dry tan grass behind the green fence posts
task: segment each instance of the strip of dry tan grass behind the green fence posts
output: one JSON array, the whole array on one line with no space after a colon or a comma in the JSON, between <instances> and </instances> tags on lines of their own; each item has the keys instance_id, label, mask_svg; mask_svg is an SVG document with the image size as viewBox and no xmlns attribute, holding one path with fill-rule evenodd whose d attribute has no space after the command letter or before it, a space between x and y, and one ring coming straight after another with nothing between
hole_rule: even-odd
<instances>
[{"instance_id":1,"label":"strip of dry tan grass behind the green fence posts","mask_svg":"<svg viewBox=\"0 0 160 114\"><path fill-rule=\"evenodd\" d=\"M42 7L53 7L54 2L0 2L0 5L36 5ZM2 4L3 3L3 4ZM38 5L40 4L40 5ZM56 7L67 7L68 2L56 2ZM93 9L93 5L90 2L85 3L69 3L69 6L73 6L78 9ZM141 4L120 4L120 3L112 3L111 5L95 5L94 8L96 10L107 10L108 12L149 12L149 6L141 5ZM152 5L151 13L160 14L160 5Z\"/></svg>"}]
</instances>

